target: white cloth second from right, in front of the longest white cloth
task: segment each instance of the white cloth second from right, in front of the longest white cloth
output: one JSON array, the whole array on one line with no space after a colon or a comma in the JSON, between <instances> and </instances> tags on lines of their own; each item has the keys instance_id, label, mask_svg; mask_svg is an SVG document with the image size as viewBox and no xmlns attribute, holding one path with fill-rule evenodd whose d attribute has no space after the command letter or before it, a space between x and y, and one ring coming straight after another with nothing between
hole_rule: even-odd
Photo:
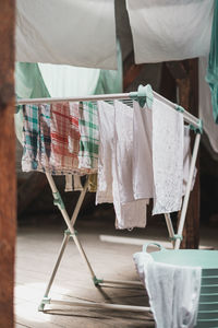
<instances>
[{"instance_id":1,"label":"white cloth second from right, in front of the longest white cloth","mask_svg":"<svg viewBox=\"0 0 218 328\"><path fill-rule=\"evenodd\" d=\"M133 191L134 199L154 197L152 109L133 102Z\"/></svg>"}]
</instances>

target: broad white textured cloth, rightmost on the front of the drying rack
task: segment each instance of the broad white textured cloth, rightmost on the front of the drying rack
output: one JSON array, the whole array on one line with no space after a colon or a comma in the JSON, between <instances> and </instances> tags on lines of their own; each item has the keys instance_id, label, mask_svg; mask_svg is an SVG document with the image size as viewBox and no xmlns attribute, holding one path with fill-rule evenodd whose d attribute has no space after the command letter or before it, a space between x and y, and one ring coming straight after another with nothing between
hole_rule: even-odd
<instances>
[{"instance_id":1,"label":"broad white textured cloth, rightmost on the front of the drying rack","mask_svg":"<svg viewBox=\"0 0 218 328\"><path fill-rule=\"evenodd\" d=\"M183 115L156 97L153 113L153 214L181 209L183 184Z\"/></svg>"}]
</instances>

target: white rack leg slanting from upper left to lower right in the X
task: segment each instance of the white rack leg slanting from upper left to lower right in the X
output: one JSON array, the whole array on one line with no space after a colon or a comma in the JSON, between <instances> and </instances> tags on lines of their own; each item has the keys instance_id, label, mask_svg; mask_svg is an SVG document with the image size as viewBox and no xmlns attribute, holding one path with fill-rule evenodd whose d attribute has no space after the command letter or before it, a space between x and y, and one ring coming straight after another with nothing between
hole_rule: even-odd
<instances>
[{"instance_id":1,"label":"white rack leg slanting from upper left to lower right in the X","mask_svg":"<svg viewBox=\"0 0 218 328\"><path fill-rule=\"evenodd\" d=\"M56 187L56 184L55 184L55 180L53 180L52 176L49 173L46 173L46 176L47 176L47 179L49 181L49 185L51 187L52 192L58 192L58 189ZM75 230L71 225L71 220L69 218L69 214L68 214L65 208L63 208L63 209L60 208L60 211L61 211L61 213L63 215L63 219L64 219L64 221L65 221L65 223L68 225L68 229L70 230L70 232L72 234L72 238L73 238L73 241L74 241L74 243L75 243L75 245L76 245L76 247L77 247L77 249L78 249L82 258L84 259L84 261L85 261L85 263L86 263L86 266L88 268L88 271L89 271L92 278L95 279L95 277L96 277L95 272L94 272L94 270L93 270L93 268L92 268L92 266L90 266L90 263L89 263L89 261L87 259L87 256L86 256L86 254L85 254L85 251L84 251L84 249L83 249L83 247L82 247L78 238L76 237Z\"/></svg>"}]
</instances>

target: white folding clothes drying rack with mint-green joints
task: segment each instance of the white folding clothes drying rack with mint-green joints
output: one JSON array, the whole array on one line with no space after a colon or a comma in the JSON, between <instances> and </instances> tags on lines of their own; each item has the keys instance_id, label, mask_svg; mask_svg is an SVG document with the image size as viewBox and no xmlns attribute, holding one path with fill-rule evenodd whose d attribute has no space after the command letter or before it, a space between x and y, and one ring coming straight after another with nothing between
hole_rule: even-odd
<instances>
[{"instance_id":1,"label":"white folding clothes drying rack with mint-green joints","mask_svg":"<svg viewBox=\"0 0 218 328\"><path fill-rule=\"evenodd\" d=\"M186 215L186 210L187 210L187 204L189 204L189 199L190 199L190 192L191 192L191 186L192 186L192 180L193 180L193 176L194 176L194 168L195 168L195 164L196 164L196 159L197 159L197 153L198 153L198 147L199 147L199 141L201 141L201 133L203 131L203 125L202 125L202 120L198 119L197 117L193 116L192 114L190 114L189 112L186 112L184 108L182 108L181 106L178 106L177 104L171 103L170 101L166 99L165 97L162 97L161 95L159 95L156 92L153 92L154 97L158 98L159 101L167 103L172 110L179 110L182 113L183 117L184 117L184 121L187 122L190 125L190 128L192 130L194 130L196 132L195 134L195 140L194 140L194 147L193 147L193 152L192 152L192 159L191 159L191 165L190 165L190 175L189 175L189 179L187 179L187 185L186 185L186 190L185 190L185 195L183 198L183 202L182 202L182 209L181 209L181 214L179 218L179 224L178 224L178 231L177 233L174 232L173 225L172 225L172 221L171 221L171 216L169 213L165 214L165 220L166 220L166 224L167 224L167 229L169 232L169 239L172 243L172 247L174 249L179 249L180 248L180 244L182 241L182 233L183 233L183 227L184 227L184 222L185 222L185 215ZM113 101L113 99L120 99L123 102L128 102L129 104L131 103L132 99L138 99L137 97L142 97L142 93L141 95L137 94L137 92L131 92L131 93L120 93L120 94L104 94L104 95L90 95L90 96L86 96L86 97L64 97L64 98L23 98L23 99L19 99L16 102L16 105L26 105L26 104L51 104L51 103L61 103L61 102L96 102L96 101ZM122 304L109 304L109 303L94 303L94 302L85 302L85 301L62 301L62 300L53 300L51 297L49 297L49 292L51 289L51 285L53 283L53 280L56 278L57 271L59 269L62 256L64 254L65 247L70 241L70 238L73 239L73 242L75 243L75 246L81 255L81 257L83 258L87 270L90 274L90 278L94 282L95 286L104 286L105 284L110 284L110 285L126 285L126 286L142 286L142 283L140 281L123 281L123 280L107 280L107 279L99 279L97 278L88 258L87 255L77 237L77 232L74 229L80 209L83 204L85 195L87 192L87 188L88 188L88 179L86 179L85 185L80 194L77 203L74 208L74 212L72 214L72 218L69 216L66 210L65 210L65 206L64 202L58 191L58 188L56 186L56 183L53 180L53 177L51 176L50 173L45 173L46 177L48 179L48 183L50 185L52 195L53 195L53 203L55 206L57 206L65 221L65 224L68 226L68 229L64 231L64 236L63 236L63 241L57 257L57 261L53 266L48 285L46 288L44 297L40 302L40 305L38 307L39 311L44 311L45 306L47 304L58 304L58 305L72 305L72 306L84 306L84 307L94 307L94 308L108 308L108 309L120 309L120 311L131 311L131 312L140 312L140 313L144 313L144 312L149 312L150 308L146 307L146 306L131 306L131 305L122 305Z\"/></svg>"}]
</instances>

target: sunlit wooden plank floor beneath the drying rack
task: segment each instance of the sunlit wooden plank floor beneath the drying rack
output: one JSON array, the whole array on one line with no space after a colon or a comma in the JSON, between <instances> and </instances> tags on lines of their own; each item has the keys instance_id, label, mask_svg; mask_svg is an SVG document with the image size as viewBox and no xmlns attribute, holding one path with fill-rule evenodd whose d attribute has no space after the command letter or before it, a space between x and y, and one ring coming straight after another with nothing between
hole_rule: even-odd
<instances>
[{"instance_id":1,"label":"sunlit wooden plank floor beneath the drying rack","mask_svg":"<svg viewBox=\"0 0 218 328\"><path fill-rule=\"evenodd\" d=\"M40 223L39 223L40 222ZM114 231L112 221L83 220L78 222L78 237L98 278L137 280L132 255L140 245L107 243L101 235L137 237L141 239L166 239L162 225L133 232ZM47 306L45 313L37 307L44 295L46 283L57 258L64 225L57 221L47 224L46 218L34 224L23 224L17 231L15 314L16 328L22 327L71 327L71 328L140 328L155 327L148 315L116 311L85 309L82 307ZM203 230L202 243L218 246L216 230ZM107 237L106 237L107 239ZM120 239L122 242L122 239ZM118 241L118 242L120 242ZM147 306L143 289L97 289L89 279L86 267L71 241L66 247L60 270L51 289L51 296L59 300L83 300Z\"/></svg>"}]
</instances>

